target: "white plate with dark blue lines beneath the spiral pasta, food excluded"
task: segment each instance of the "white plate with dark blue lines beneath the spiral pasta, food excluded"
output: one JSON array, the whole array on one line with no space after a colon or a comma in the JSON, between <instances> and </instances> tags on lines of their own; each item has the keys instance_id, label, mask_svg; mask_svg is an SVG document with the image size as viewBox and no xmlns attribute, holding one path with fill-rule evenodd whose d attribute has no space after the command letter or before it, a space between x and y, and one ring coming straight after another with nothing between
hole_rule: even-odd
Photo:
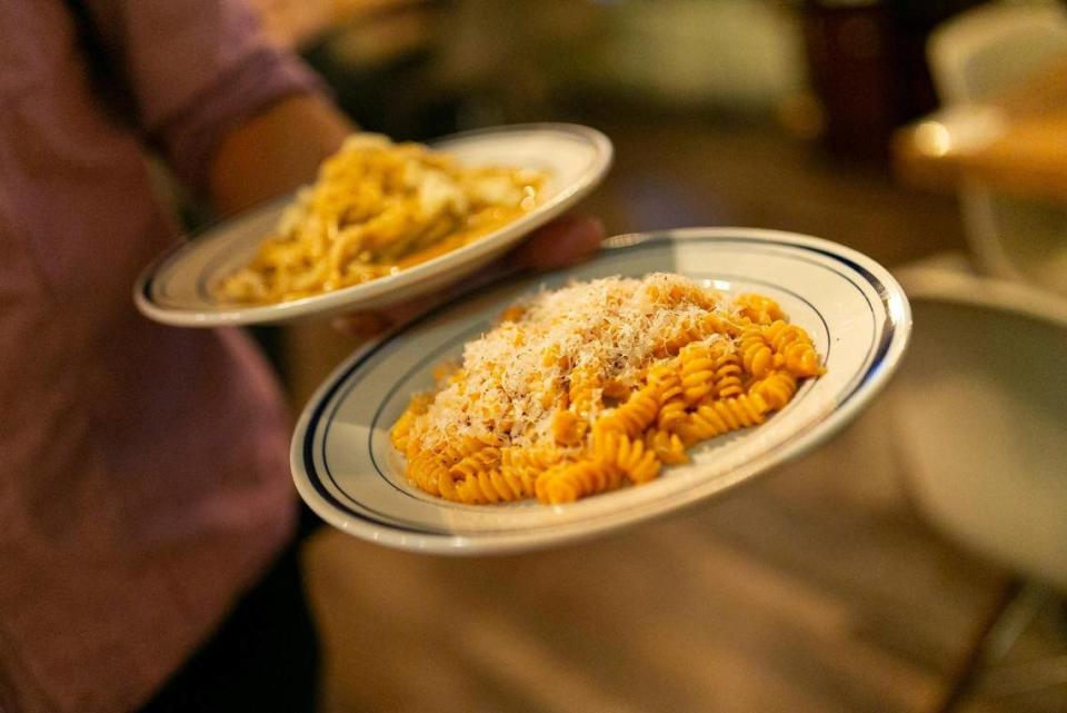
<instances>
[{"instance_id":1,"label":"white plate with dark blue lines beneath the spiral pasta, food excluded","mask_svg":"<svg viewBox=\"0 0 1067 713\"><path fill-rule=\"evenodd\" d=\"M690 450L691 463L639 487L559 506L471 506L407 482L388 432L410 395L432 385L436 364L458 357L508 304L541 285L652 271L774 297L811 335L827 374L808 380L764 425L704 442ZM910 326L907 299L889 273L834 242L744 228L620 236L590 263L459 298L355 354L300 417L293 477L327 522L392 547L473 555L576 541L720 494L826 440L885 386Z\"/></svg>"}]
</instances>

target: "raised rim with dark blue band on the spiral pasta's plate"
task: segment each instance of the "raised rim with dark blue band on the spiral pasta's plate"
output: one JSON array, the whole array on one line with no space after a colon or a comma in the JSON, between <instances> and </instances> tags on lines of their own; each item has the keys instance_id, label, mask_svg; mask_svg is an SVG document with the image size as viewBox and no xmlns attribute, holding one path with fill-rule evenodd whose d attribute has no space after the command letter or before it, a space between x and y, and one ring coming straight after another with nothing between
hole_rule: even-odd
<instances>
[{"instance_id":1,"label":"raised rim with dark blue band on the spiral pasta's plate","mask_svg":"<svg viewBox=\"0 0 1067 713\"><path fill-rule=\"evenodd\" d=\"M606 254L616 250L626 250L646 246L650 242L672 242L689 239L718 239L729 241L760 241L768 245L799 248L831 258L847 266L851 273L870 285L880 298L886 311L886 329L877 351L866 373L857 378L855 388L842 402L825 418L814 424L810 429L800 433L775 452L768 452L749 461L745 465L694 488L677 493L652 504L651 507L637 512L630 511L624 515L607 515L600 522L590 525L587 522L561 523L558 526L532 528L523 532L500 532L485 535L469 534L437 534L420 533L400 526L387 524L371 524L355 519L343 513L343 505L331 504L332 496L325 489L316 487L308 467L313 468L311 456L317 433L316 426L332 397L343 385L346 379L355 373L359 365L373 355L386 344L399 338L405 331L418 324L431 319L440 311L448 309L465 299L473 296L477 290L470 290L440 305L433 310L412 323L395 329L381 339L368 344L357 350L345 363L339 365L332 374L319 386L300 415L293 429L290 448L290 467L297 491L303 501L325 521L370 542L386 546L422 552L427 554L442 554L456 556L492 555L523 552L548 547L564 543L579 542L607 532L651 519L694 505L711 496L719 495L735 486L747 482L752 476L766 472L795 458L816 446L825 443L841 428L848 425L870 400L885 388L893 374L900 365L901 357L907 348L911 331L911 308L900 284L881 265L866 255L842 245L816 238L812 236L771 230L762 228L716 227L716 228L678 228L646 234L627 234L609 238L605 241ZM481 288L485 289L485 288ZM321 479L321 478L320 478Z\"/></svg>"}]
</instances>

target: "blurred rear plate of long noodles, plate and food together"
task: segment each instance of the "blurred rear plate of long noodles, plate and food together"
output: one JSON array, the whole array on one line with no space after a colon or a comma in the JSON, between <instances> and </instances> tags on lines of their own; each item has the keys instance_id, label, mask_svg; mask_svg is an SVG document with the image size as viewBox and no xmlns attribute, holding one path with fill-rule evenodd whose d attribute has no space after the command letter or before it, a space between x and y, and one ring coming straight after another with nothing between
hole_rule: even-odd
<instances>
[{"instance_id":1,"label":"blurred rear plate of long noodles, plate and food together","mask_svg":"<svg viewBox=\"0 0 1067 713\"><path fill-rule=\"evenodd\" d=\"M357 133L316 181L149 266L133 299L181 327L271 324L411 299L486 265L589 194L599 131L538 123L422 146Z\"/></svg>"}]
</instances>

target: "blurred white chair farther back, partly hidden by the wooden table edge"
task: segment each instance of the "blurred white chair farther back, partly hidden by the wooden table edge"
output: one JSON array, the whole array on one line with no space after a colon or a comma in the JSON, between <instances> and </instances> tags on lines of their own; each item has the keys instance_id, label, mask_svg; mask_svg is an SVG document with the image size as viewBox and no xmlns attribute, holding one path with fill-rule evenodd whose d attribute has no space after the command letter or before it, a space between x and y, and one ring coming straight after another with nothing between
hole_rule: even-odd
<instances>
[{"instance_id":1,"label":"blurred white chair farther back, partly hidden by the wooden table edge","mask_svg":"<svg viewBox=\"0 0 1067 713\"><path fill-rule=\"evenodd\" d=\"M1051 62L1067 60L1067 9L980 6L936 28L927 58L944 106L994 101ZM961 187L960 207L984 271L1067 295L1067 207L998 195L974 181Z\"/></svg>"}]
</instances>

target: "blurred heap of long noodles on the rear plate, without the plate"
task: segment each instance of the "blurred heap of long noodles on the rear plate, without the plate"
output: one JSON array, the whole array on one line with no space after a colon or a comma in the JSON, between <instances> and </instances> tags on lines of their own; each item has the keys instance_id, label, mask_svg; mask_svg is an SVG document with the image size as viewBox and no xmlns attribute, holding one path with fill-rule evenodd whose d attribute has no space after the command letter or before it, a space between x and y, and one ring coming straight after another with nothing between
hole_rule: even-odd
<instances>
[{"instance_id":1,"label":"blurred heap of long noodles on the rear plate, without the plate","mask_svg":"<svg viewBox=\"0 0 1067 713\"><path fill-rule=\"evenodd\" d=\"M285 301L398 273L531 210L546 181L538 171L468 167L419 143L355 135L216 297Z\"/></svg>"}]
</instances>

